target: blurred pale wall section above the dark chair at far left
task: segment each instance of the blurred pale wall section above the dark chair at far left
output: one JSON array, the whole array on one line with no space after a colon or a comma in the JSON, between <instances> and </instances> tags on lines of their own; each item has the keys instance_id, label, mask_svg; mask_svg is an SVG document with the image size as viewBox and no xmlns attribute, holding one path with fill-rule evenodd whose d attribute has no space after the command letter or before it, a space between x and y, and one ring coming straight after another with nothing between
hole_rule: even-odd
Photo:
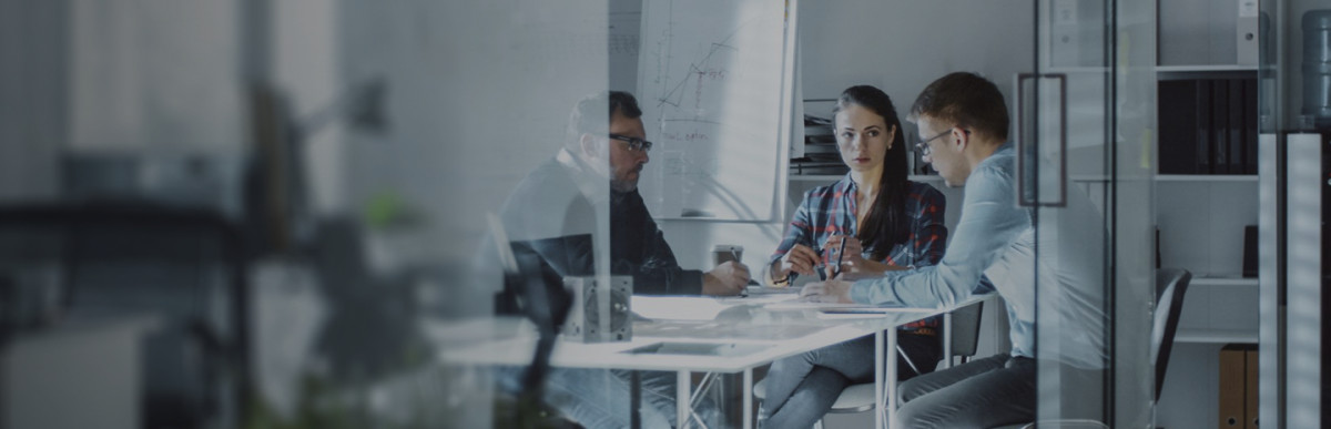
<instances>
[{"instance_id":1,"label":"blurred pale wall section above the dark chair at far left","mask_svg":"<svg viewBox=\"0 0 1331 429\"><path fill-rule=\"evenodd\" d=\"M72 1L69 148L238 151L238 4Z\"/></svg>"}]
</instances>

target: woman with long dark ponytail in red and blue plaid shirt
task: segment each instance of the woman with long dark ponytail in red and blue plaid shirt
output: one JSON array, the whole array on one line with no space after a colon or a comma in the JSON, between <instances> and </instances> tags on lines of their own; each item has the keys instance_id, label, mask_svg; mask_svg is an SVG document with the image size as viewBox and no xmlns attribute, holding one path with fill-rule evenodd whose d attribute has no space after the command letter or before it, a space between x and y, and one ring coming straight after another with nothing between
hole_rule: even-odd
<instances>
[{"instance_id":1,"label":"woman with long dark ponytail in red and blue plaid shirt","mask_svg":"<svg viewBox=\"0 0 1331 429\"><path fill-rule=\"evenodd\" d=\"M933 187L906 180L906 141L892 99L874 87L851 87L833 112L837 149L851 172L804 195L767 266L769 285L788 285L797 274L873 276L942 258L945 200ZM898 380L938 365L938 325L934 317L901 328ZM765 424L811 426L845 386L873 380L873 354L866 337L773 362L761 408Z\"/></svg>"}]
</instances>

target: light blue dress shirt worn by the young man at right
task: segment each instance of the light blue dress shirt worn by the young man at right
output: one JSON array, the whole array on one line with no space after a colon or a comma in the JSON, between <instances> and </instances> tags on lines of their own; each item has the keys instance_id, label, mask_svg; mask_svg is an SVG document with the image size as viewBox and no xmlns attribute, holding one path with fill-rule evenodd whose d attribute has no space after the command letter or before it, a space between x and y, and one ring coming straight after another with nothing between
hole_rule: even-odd
<instances>
[{"instance_id":1,"label":"light blue dress shirt worn by the young man at right","mask_svg":"<svg viewBox=\"0 0 1331 429\"><path fill-rule=\"evenodd\" d=\"M1006 302L1013 356L1103 368L1105 228L1099 211L1074 187L1067 189L1066 208L1040 211L1037 228L1036 213L1017 205L1012 143L981 161L965 189L961 220L941 262L860 280L851 288L851 300L949 306L969 297L981 276L988 276ZM1037 289L1044 329L1038 354Z\"/></svg>"}]
</instances>

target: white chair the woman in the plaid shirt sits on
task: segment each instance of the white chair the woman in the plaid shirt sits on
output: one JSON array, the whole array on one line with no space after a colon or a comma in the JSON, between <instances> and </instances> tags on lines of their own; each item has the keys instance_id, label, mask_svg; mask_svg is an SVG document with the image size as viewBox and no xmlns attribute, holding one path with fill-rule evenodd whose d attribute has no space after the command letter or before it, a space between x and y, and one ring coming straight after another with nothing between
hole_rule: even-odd
<instances>
[{"instance_id":1,"label":"white chair the woman in the plaid shirt sits on","mask_svg":"<svg viewBox=\"0 0 1331 429\"><path fill-rule=\"evenodd\" d=\"M944 316L944 366L950 368L954 358L966 362L976 356L980 344L980 316L984 312L984 301L952 310ZM753 386L753 396L759 400L767 397L765 380ZM896 380L884 380L896 382ZM837 396L836 402L828 409L828 414L852 414L873 409L873 382L861 382L847 386ZM820 420L815 428L823 428Z\"/></svg>"}]
</instances>

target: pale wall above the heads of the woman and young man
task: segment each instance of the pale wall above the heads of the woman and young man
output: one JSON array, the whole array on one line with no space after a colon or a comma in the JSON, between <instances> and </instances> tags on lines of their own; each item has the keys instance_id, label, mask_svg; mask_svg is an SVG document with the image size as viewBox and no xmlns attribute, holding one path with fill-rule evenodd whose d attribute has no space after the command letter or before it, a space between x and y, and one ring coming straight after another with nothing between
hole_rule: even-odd
<instances>
[{"instance_id":1,"label":"pale wall above the heads of the woman and young man","mask_svg":"<svg viewBox=\"0 0 1331 429\"><path fill-rule=\"evenodd\" d=\"M902 112L934 79L977 72L1012 99L1012 77L1033 68L1029 1L803 1L804 97L878 87Z\"/></svg>"}]
</instances>

